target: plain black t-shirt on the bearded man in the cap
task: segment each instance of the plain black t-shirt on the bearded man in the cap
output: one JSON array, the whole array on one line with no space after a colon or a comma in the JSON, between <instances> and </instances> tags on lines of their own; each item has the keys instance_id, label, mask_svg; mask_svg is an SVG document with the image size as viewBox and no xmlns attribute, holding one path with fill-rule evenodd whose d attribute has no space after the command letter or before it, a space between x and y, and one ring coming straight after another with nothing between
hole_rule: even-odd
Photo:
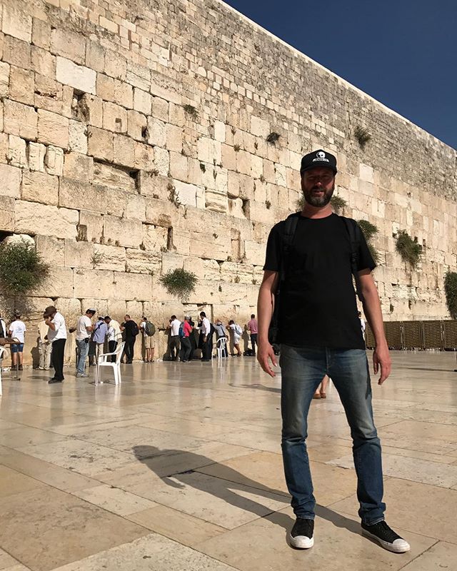
<instances>
[{"instance_id":1,"label":"plain black t-shirt on the bearded man in the cap","mask_svg":"<svg viewBox=\"0 0 457 571\"><path fill-rule=\"evenodd\" d=\"M279 271L284 221L271 229L264 270ZM279 335L294 347L363 349L351 273L351 241L343 218L298 217L286 281L281 285ZM358 269L376 267L361 233Z\"/></svg>"}]
</instances>

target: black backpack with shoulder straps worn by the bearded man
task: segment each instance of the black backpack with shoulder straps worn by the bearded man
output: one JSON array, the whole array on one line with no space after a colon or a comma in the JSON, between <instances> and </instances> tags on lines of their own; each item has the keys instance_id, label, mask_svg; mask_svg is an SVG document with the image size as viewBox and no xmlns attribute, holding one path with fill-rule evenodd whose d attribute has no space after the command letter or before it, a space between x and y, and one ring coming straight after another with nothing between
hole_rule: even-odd
<instances>
[{"instance_id":1,"label":"black backpack with shoulder straps worn by the bearded man","mask_svg":"<svg viewBox=\"0 0 457 571\"><path fill-rule=\"evenodd\" d=\"M273 315L271 315L271 322L268 328L268 343L271 345L278 345L281 343L279 338L279 306L281 305L281 285L286 281L288 256L293 243L293 236L297 229L298 217L301 216L300 212L289 215L284 221L283 231L283 255L281 256L281 266L279 268L278 287L274 295L274 308ZM349 234L351 241L351 272L356 282L356 293L358 299L363 303L363 294L360 283L360 276L358 276L358 248L361 242L361 229L352 218L341 216L346 224L346 230Z\"/></svg>"}]
</instances>

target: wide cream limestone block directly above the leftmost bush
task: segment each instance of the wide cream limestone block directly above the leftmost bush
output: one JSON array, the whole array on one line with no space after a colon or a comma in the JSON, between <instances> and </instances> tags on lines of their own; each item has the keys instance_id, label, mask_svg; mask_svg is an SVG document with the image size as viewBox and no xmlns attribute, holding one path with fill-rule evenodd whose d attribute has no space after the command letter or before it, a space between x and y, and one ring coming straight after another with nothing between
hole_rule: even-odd
<instances>
[{"instance_id":1,"label":"wide cream limestone block directly above the leftmost bush","mask_svg":"<svg viewBox=\"0 0 457 571\"><path fill-rule=\"evenodd\" d=\"M79 213L76 210L18 200L15 216L16 232L76 238L76 225L79 221Z\"/></svg>"}]
</instances>

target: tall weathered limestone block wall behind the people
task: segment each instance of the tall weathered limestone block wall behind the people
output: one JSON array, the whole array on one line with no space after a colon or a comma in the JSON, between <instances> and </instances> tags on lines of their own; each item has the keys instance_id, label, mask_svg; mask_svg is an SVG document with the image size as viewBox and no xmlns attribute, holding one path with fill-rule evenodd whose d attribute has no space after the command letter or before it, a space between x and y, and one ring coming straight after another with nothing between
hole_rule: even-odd
<instances>
[{"instance_id":1,"label":"tall weathered limestone block wall behind the people","mask_svg":"<svg viewBox=\"0 0 457 571\"><path fill-rule=\"evenodd\" d=\"M27 358L50 303L69 325L89 305L159 327L201 309L246 322L268 231L318 146L338 157L344 214L379 228L385 318L447 315L456 151L219 1L0 6L0 236L32 236L51 265L24 309ZM399 229L426 246L417 271ZM199 276L184 306L159 283L182 267Z\"/></svg>"}]
</instances>

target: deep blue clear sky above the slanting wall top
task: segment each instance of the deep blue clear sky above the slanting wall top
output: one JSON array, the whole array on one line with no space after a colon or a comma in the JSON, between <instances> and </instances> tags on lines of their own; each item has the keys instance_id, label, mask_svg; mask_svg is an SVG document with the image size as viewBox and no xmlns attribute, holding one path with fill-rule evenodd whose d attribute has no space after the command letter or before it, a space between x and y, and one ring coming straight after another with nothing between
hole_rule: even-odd
<instances>
[{"instance_id":1,"label":"deep blue clear sky above the slanting wall top","mask_svg":"<svg viewBox=\"0 0 457 571\"><path fill-rule=\"evenodd\" d=\"M457 0L225 0L457 148Z\"/></svg>"}]
</instances>

